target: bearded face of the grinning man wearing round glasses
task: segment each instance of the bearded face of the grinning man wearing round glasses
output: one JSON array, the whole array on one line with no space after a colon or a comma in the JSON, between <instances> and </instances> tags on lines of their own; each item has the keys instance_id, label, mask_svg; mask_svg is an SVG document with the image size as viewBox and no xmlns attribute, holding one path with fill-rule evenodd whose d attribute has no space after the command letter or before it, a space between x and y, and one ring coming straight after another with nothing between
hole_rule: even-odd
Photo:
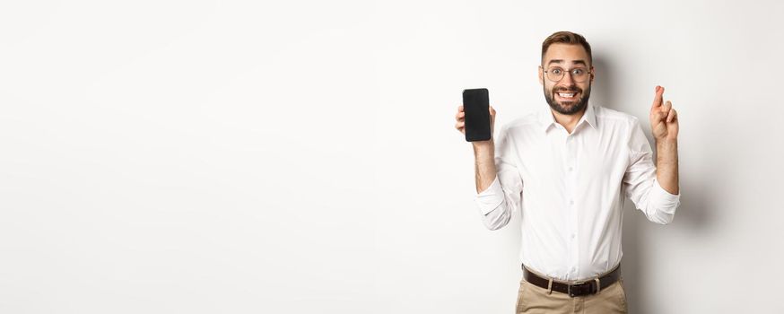
<instances>
[{"instance_id":1,"label":"bearded face of the grinning man wearing round glasses","mask_svg":"<svg viewBox=\"0 0 784 314\"><path fill-rule=\"evenodd\" d=\"M559 69L562 78L558 82L551 81L547 77L548 74L557 73ZM575 79L580 80L579 77L572 75L575 69L582 69L586 74L582 82L575 81ZM547 48L542 66L539 67L539 83L544 85L544 99L547 100L550 108L564 115L579 113L588 105L593 80L594 69L590 65L585 48L562 43Z\"/></svg>"}]
</instances>

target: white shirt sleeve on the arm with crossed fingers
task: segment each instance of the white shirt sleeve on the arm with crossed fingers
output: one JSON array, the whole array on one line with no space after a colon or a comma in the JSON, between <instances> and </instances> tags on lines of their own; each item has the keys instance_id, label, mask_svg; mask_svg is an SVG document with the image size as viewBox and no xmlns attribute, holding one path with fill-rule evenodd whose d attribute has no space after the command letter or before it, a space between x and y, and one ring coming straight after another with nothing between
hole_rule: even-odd
<instances>
[{"instance_id":1,"label":"white shirt sleeve on the arm with crossed fingers","mask_svg":"<svg viewBox=\"0 0 784 314\"><path fill-rule=\"evenodd\" d=\"M640 120L634 118L629 138L629 166L623 175L625 195L651 222L667 224L673 221L675 209L681 204L681 194L671 194L658 183L653 151ZM680 191L679 191L680 192Z\"/></svg>"}]
</instances>

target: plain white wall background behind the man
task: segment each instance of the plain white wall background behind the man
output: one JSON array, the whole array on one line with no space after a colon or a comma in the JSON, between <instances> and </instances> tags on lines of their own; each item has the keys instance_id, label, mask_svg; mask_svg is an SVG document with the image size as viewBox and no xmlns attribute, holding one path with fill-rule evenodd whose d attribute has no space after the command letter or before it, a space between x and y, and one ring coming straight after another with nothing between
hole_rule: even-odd
<instances>
[{"instance_id":1,"label":"plain white wall background behind the man","mask_svg":"<svg viewBox=\"0 0 784 314\"><path fill-rule=\"evenodd\" d=\"M660 84L679 110L675 221L624 209L631 312L780 312L781 13L5 1L0 311L510 313L518 220L484 229L454 114L475 87L499 125L546 106L541 42L569 30L593 104L647 121Z\"/></svg>"}]
</instances>

